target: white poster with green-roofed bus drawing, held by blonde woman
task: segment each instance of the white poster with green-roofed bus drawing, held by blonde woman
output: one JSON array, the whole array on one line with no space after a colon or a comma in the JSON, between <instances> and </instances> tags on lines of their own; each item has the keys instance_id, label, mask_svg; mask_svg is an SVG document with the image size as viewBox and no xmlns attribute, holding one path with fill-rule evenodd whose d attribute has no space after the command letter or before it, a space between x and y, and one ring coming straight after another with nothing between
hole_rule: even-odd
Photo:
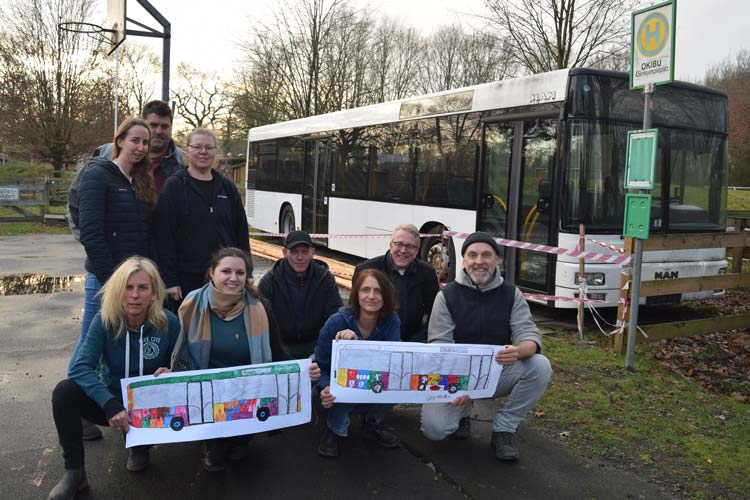
<instances>
[{"instance_id":1,"label":"white poster with green-roofed bus drawing, held by blonde woman","mask_svg":"<svg viewBox=\"0 0 750 500\"><path fill-rule=\"evenodd\" d=\"M310 421L310 360L122 380L125 446L252 434Z\"/></svg>"}]
</instances>

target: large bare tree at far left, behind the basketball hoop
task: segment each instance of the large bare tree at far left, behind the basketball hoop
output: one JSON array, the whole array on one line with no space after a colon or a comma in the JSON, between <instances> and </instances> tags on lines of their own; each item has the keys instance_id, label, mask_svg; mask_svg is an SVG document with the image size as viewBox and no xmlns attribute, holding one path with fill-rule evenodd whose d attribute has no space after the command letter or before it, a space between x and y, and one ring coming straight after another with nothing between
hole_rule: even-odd
<instances>
[{"instance_id":1,"label":"large bare tree at far left, behind the basketball hoop","mask_svg":"<svg viewBox=\"0 0 750 500\"><path fill-rule=\"evenodd\" d=\"M111 85L96 47L58 29L90 20L92 8L93 0L13 0L0 11L5 128L56 171L112 137Z\"/></svg>"}]
</instances>

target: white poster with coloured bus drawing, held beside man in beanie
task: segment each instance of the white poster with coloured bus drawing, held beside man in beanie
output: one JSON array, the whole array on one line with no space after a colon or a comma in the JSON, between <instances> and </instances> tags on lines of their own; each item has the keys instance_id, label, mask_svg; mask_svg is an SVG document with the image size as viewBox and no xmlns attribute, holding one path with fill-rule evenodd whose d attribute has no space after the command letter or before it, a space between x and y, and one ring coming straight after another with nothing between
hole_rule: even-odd
<instances>
[{"instance_id":1,"label":"white poster with coloured bus drawing, held beside man in beanie","mask_svg":"<svg viewBox=\"0 0 750 500\"><path fill-rule=\"evenodd\" d=\"M502 346L335 340L331 393L341 403L445 403L492 397Z\"/></svg>"}]
</instances>

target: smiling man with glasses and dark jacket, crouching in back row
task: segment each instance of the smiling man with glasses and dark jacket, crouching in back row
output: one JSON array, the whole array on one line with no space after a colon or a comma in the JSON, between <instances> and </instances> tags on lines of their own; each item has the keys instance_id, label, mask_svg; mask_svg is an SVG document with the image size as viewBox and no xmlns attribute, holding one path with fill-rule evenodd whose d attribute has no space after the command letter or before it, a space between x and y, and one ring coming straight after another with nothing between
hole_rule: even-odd
<instances>
[{"instance_id":1,"label":"smiling man with glasses and dark jacket, crouching in back row","mask_svg":"<svg viewBox=\"0 0 750 500\"><path fill-rule=\"evenodd\" d=\"M354 270L356 277L364 269L378 269L396 286L401 340L404 342L427 340L427 322L439 290L435 269L417 260L418 254L419 231L411 224L400 224L393 230L390 248L385 255L366 260Z\"/></svg>"}]
</instances>

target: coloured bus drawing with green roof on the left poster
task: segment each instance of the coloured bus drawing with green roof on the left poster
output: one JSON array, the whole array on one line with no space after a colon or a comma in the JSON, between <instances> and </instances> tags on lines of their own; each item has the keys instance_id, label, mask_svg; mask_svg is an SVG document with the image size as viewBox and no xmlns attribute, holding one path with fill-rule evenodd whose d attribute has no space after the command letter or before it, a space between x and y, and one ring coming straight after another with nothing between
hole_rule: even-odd
<instances>
[{"instance_id":1,"label":"coloured bus drawing with green roof on the left poster","mask_svg":"<svg viewBox=\"0 0 750 500\"><path fill-rule=\"evenodd\" d=\"M302 405L299 371L291 363L133 382L127 387L131 425L179 431L187 425L263 422L297 413Z\"/></svg>"}]
</instances>

